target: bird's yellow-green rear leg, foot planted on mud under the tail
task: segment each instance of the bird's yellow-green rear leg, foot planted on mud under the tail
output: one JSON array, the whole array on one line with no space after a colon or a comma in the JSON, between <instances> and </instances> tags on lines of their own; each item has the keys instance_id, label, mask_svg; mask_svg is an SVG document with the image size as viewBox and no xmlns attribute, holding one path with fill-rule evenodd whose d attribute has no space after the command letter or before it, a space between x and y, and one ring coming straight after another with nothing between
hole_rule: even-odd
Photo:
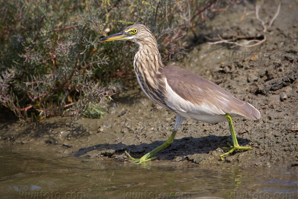
<instances>
[{"instance_id":1,"label":"bird's yellow-green rear leg, foot planted on mud under the tail","mask_svg":"<svg viewBox=\"0 0 298 199\"><path fill-rule=\"evenodd\" d=\"M228 121L228 125L230 128L230 132L231 132L231 137L232 137L232 141L233 141L233 146L231 146L229 143L227 143L229 145L229 148L226 147L222 147L223 149L227 150L228 152L224 153L223 155L221 155L221 159L224 160L224 156L232 153L234 150L251 150L251 147L241 147L238 144L237 138L236 138L236 134L235 134L235 130L234 130L234 125L233 125L233 120L230 114L226 113L224 115Z\"/></svg>"}]
</instances>

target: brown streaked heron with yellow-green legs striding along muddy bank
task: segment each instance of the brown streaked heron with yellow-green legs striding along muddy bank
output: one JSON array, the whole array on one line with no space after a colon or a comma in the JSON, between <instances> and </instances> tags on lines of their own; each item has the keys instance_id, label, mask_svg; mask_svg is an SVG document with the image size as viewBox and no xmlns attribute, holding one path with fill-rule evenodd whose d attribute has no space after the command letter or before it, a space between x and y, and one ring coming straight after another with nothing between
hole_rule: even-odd
<instances>
[{"instance_id":1,"label":"brown streaked heron with yellow-green legs striding along muddy bank","mask_svg":"<svg viewBox=\"0 0 298 199\"><path fill-rule=\"evenodd\" d=\"M197 74L177 66L165 66L161 61L157 40L143 24L134 24L125 30L103 37L99 42L130 40L139 45L134 57L134 71L138 83L145 95L166 110L176 113L174 128L170 137L143 157L136 159L125 154L136 164L156 159L155 153L172 144L175 135L185 118L216 124L228 121L233 146L221 147L231 154L235 150L251 150L251 147L239 146L232 117L247 117L258 120L261 116L251 104L239 100L226 90Z\"/></svg>"}]
</instances>

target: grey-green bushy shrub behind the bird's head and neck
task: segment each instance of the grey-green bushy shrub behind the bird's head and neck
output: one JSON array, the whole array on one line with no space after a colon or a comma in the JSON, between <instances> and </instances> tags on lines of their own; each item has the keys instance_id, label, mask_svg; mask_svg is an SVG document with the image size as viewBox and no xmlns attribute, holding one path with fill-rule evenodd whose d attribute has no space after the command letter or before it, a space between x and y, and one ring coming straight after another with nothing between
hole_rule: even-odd
<instances>
[{"instance_id":1,"label":"grey-green bushy shrub behind the bird's head and neck","mask_svg":"<svg viewBox=\"0 0 298 199\"><path fill-rule=\"evenodd\" d=\"M98 45L98 39L144 23L167 60L184 50L181 38L202 22L199 13L209 15L211 6L219 6L215 2L0 0L0 103L28 122L56 115L100 117L100 103L132 77L137 46Z\"/></svg>"}]
</instances>

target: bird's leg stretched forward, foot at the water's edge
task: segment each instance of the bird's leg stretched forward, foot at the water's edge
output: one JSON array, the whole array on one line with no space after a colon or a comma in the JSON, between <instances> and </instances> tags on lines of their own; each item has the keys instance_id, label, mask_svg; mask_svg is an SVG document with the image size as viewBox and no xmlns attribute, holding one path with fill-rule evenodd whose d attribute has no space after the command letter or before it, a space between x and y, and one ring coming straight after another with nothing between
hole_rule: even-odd
<instances>
[{"instance_id":1,"label":"bird's leg stretched forward, foot at the water's edge","mask_svg":"<svg viewBox=\"0 0 298 199\"><path fill-rule=\"evenodd\" d=\"M155 149L153 149L152 151L150 151L149 153L144 155L142 158L140 158L140 159L133 158L126 151L125 151L125 154L131 160L135 161L134 163L137 163L137 164L141 164L141 163L148 162L150 160L156 159L156 157L152 157L152 158L150 158L150 157L153 156L155 153L161 151L162 149L165 149L166 147L168 147L169 145L171 145L173 143L175 135L176 135L176 133L177 133L177 131L178 131L178 129L179 129L179 127L182 124L184 119L185 119L185 117L182 117L182 116L177 114L176 121L175 121L175 126L174 126L174 129L173 129L172 134L170 135L170 137L165 141L165 143L163 143L162 145L156 147Z\"/></svg>"}]
</instances>

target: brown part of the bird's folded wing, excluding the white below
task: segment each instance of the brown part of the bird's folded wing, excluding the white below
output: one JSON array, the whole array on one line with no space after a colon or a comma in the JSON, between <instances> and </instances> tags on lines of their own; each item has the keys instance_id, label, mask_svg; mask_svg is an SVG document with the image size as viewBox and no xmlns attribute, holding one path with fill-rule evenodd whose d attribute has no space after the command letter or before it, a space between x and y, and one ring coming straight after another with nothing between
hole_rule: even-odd
<instances>
[{"instance_id":1,"label":"brown part of the bird's folded wing, excluding the white below","mask_svg":"<svg viewBox=\"0 0 298 199\"><path fill-rule=\"evenodd\" d=\"M165 66L161 74L173 92L201 109L203 106L212 107L208 109L212 109L214 114L229 113L254 120L260 118L260 112L255 107L199 75L176 66Z\"/></svg>"}]
</instances>

